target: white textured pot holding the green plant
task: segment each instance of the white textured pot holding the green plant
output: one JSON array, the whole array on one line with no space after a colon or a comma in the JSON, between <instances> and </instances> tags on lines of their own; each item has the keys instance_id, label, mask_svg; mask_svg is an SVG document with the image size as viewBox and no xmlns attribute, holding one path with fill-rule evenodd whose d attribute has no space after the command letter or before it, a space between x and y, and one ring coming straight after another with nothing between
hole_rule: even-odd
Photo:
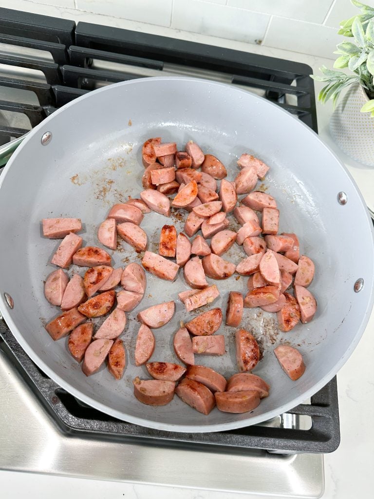
<instances>
[{"instance_id":1,"label":"white textured pot holding the green plant","mask_svg":"<svg viewBox=\"0 0 374 499\"><path fill-rule=\"evenodd\" d=\"M360 111L368 100L360 83L352 85L331 116L330 132L348 156L374 167L374 118Z\"/></svg>"}]
</instances>

